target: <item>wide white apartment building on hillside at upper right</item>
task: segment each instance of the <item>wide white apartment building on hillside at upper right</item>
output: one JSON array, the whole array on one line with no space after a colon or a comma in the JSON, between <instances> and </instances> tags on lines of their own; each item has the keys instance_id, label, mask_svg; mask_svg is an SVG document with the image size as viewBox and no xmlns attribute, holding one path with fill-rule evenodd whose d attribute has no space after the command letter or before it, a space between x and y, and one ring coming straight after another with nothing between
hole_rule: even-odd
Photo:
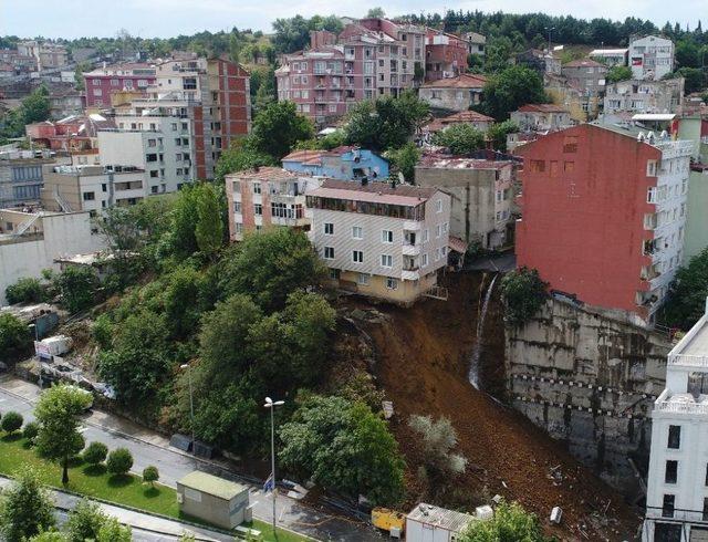
<instances>
[{"instance_id":1,"label":"wide white apartment building on hillside at upper right","mask_svg":"<svg viewBox=\"0 0 708 542\"><path fill-rule=\"evenodd\" d=\"M684 96L684 77L608 84L605 87L604 114L677 113Z\"/></svg>"}]
</instances>

